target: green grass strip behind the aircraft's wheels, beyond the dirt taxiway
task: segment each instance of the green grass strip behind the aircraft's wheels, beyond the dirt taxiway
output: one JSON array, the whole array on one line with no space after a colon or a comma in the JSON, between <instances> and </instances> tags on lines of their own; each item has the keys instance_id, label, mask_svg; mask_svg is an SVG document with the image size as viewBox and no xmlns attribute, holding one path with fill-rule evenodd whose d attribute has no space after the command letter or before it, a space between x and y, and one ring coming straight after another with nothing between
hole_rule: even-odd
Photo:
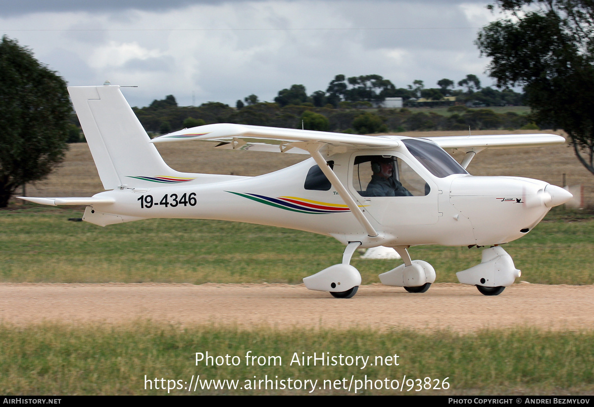
<instances>
[{"instance_id":1,"label":"green grass strip behind the aircraft's wheels, beyond the dirt taxiway","mask_svg":"<svg viewBox=\"0 0 594 407\"><path fill-rule=\"evenodd\" d=\"M80 216L58 208L0 211L0 281L299 284L339 263L344 249L330 237L237 222L157 219L102 228L67 220ZM546 219L504 246L522 280L594 284L594 218L555 211ZM466 247L410 253L434 266L437 282L457 282L456 272L481 261L481 250ZM399 264L352 260L363 284Z\"/></svg>"}]
</instances>

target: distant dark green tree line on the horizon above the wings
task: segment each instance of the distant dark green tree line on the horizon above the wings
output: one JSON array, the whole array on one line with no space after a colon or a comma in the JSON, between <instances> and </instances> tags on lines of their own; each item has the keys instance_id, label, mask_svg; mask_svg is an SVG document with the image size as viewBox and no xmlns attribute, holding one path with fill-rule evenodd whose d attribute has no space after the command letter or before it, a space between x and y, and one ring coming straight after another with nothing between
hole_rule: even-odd
<instances>
[{"instance_id":1,"label":"distant dark green tree line on the horizon above the wings","mask_svg":"<svg viewBox=\"0 0 594 407\"><path fill-rule=\"evenodd\" d=\"M282 128L304 128L318 131L350 133L405 132L430 130L517 129L529 125L530 120L516 113L498 114L489 109L468 109L467 106L505 106L522 104L523 95L513 90L481 87L476 75L466 75L457 82L444 78L439 88L425 88L416 80L406 88L396 88L380 75L346 78L336 75L326 91L308 96L304 85L292 85L278 92L273 102L260 101L251 94L238 100L235 108L220 102L200 106L178 106L173 95L154 100L150 106L134 112L151 133L164 134L182 128L210 123L240 123ZM456 106L450 115L414 112L407 109L376 109L374 103L387 97L402 97L405 106L415 106L419 100L440 101L453 97Z\"/></svg>"}]
</instances>

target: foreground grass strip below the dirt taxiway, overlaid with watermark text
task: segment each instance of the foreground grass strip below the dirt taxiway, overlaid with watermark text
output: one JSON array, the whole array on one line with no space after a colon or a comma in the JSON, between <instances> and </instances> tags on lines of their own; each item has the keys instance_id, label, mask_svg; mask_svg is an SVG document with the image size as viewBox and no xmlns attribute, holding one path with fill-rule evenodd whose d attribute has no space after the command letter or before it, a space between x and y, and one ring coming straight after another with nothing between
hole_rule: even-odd
<instances>
[{"instance_id":1,"label":"foreground grass strip below the dirt taxiway, overlaid with watermark text","mask_svg":"<svg viewBox=\"0 0 594 407\"><path fill-rule=\"evenodd\" d=\"M0 325L0 381L6 395L144 395L167 394L154 388L163 378L170 387L200 379L353 380L405 379L403 390L367 389L362 394L588 394L594 390L594 332L491 330L461 335L450 331L418 333L295 329L255 331L234 327L179 327L138 322L125 326ZM277 364L247 365L245 355L275 357ZM238 365L196 365L195 353L238 356ZM328 352L330 356L369 357L374 365L298 365L294 354ZM399 355L399 365L375 365L375 357ZM231 361L231 360L230 360ZM389 361L389 360L388 360ZM222 360L219 359L222 363ZM145 383L145 375L151 381ZM405 378L406 376L406 378ZM195 377L195 376L194 376ZM448 389L422 389L445 380ZM447 379L446 379L447 378ZM435 381L435 380L438 381ZM182 380L182 382L178 382ZM195 379L194 379L195 380ZM409 381L406 381L409 380ZM253 381L252 381L253 383ZM285 381L287 383L287 381ZM329 382L326 382L329 383ZM345 382L341 381L343 386ZM354 383L354 382L353 382ZM361 381L358 382L359 386ZM145 388L146 386L146 388ZM350 393L354 393L355 384ZM396 383L393 383L396 386ZM410 389L410 390L409 390ZM193 390L193 387L192 387ZM409 390L409 391L407 391ZM188 394L175 389L171 394ZM319 389L312 394L346 394L345 389ZM306 390L198 390L189 394L308 394Z\"/></svg>"}]
</instances>

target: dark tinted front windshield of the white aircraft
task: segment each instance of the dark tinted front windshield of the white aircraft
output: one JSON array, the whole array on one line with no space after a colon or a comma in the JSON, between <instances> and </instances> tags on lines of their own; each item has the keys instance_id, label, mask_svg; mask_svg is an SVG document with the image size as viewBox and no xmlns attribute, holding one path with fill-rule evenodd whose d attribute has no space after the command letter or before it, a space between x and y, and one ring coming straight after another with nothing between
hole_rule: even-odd
<instances>
[{"instance_id":1,"label":"dark tinted front windshield of the white aircraft","mask_svg":"<svg viewBox=\"0 0 594 407\"><path fill-rule=\"evenodd\" d=\"M423 164L431 174L436 177L447 177L451 174L467 174L460 164L450 154L432 141L420 138L405 138L402 142L414 155L419 163Z\"/></svg>"}]
</instances>

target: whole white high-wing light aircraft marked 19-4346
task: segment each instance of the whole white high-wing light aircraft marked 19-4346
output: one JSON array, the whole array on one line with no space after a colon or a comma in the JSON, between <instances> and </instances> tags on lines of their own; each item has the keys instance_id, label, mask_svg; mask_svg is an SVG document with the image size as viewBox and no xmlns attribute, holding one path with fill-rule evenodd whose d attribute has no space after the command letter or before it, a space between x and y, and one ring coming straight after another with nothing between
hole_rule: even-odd
<instances>
[{"instance_id":1,"label":"whole white high-wing light aircraft marked 19-4346","mask_svg":"<svg viewBox=\"0 0 594 407\"><path fill-rule=\"evenodd\" d=\"M106 82L107 83L107 82ZM250 222L332 236L346 246L342 263L304 278L310 290L350 298L361 275L350 265L359 247L393 247L403 264L383 284L425 292L435 270L411 260L410 246L486 246L482 261L457 273L463 284L498 295L520 276L500 244L519 239L571 194L520 177L466 171L485 148L560 144L549 134L409 138L212 124L150 139L117 85L68 88L105 192L91 198L22 198L45 205L87 205L83 220L100 226L148 218ZM216 141L216 148L307 154L310 158L255 177L181 173L153 143ZM465 152L457 163L445 150ZM490 247L489 247L490 246Z\"/></svg>"}]
</instances>

